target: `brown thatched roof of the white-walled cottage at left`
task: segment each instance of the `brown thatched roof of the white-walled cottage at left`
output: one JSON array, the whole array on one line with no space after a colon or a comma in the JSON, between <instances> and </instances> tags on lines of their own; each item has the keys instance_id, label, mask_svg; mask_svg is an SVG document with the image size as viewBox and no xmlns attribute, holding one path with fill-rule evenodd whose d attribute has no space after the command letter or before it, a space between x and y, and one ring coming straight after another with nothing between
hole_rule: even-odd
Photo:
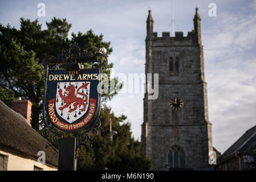
<instances>
[{"instance_id":1,"label":"brown thatched roof of the white-walled cottage at left","mask_svg":"<svg viewBox=\"0 0 256 182\"><path fill-rule=\"evenodd\" d=\"M0 147L19 155L38 159L38 151L46 153L46 164L58 166L58 150L27 124L27 120L0 100Z\"/></svg>"}]
</instances>

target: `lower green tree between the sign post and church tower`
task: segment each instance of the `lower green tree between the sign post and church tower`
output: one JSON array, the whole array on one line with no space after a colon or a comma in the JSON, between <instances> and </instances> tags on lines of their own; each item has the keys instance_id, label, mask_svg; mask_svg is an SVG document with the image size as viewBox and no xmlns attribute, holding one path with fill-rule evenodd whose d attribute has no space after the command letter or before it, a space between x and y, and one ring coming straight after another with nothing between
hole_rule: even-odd
<instances>
[{"instance_id":1,"label":"lower green tree between the sign post and church tower","mask_svg":"<svg viewBox=\"0 0 256 182\"><path fill-rule=\"evenodd\" d=\"M92 148L80 148L78 170L149 170L151 162L141 152L141 143L131 136L130 123L120 125L126 118L116 117L110 107L103 106L99 135L92 140ZM110 119L117 134L109 132Z\"/></svg>"}]
</instances>

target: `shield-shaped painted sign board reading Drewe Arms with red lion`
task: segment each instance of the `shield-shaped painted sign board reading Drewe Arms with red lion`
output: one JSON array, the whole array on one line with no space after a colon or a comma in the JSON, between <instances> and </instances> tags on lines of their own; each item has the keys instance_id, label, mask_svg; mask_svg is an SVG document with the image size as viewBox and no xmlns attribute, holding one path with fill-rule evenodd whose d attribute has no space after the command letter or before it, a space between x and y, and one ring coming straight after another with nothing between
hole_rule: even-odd
<instances>
[{"instance_id":1,"label":"shield-shaped painted sign board reading Drewe Arms with red lion","mask_svg":"<svg viewBox=\"0 0 256 182\"><path fill-rule=\"evenodd\" d=\"M99 69L50 71L47 81L48 119L57 129L82 130L99 111Z\"/></svg>"}]
</instances>

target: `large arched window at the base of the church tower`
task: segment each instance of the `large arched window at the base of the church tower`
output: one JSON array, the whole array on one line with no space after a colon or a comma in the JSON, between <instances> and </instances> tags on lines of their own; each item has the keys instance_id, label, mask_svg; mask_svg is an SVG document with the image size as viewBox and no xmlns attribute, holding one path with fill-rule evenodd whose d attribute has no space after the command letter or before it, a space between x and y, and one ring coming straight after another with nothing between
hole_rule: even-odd
<instances>
[{"instance_id":1,"label":"large arched window at the base of the church tower","mask_svg":"<svg viewBox=\"0 0 256 182\"><path fill-rule=\"evenodd\" d=\"M170 168L184 168L185 154L181 147L173 146L169 150L168 165Z\"/></svg>"}]
</instances>

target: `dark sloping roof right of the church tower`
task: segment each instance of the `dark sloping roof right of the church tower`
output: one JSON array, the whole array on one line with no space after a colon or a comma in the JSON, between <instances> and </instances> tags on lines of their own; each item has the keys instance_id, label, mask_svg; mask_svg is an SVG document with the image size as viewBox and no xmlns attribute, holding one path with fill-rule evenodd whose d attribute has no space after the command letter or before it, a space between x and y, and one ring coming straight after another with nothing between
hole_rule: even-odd
<instances>
[{"instance_id":1,"label":"dark sloping roof right of the church tower","mask_svg":"<svg viewBox=\"0 0 256 182\"><path fill-rule=\"evenodd\" d=\"M217 158L217 163L224 162L229 156L234 155L235 152L239 152L240 154L246 150L247 147L251 145L251 143L255 142L256 139L256 125L251 127L251 129L247 130L245 134L242 135L235 143L233 143L227 150Z\"/></svg>"}]
</instances>

